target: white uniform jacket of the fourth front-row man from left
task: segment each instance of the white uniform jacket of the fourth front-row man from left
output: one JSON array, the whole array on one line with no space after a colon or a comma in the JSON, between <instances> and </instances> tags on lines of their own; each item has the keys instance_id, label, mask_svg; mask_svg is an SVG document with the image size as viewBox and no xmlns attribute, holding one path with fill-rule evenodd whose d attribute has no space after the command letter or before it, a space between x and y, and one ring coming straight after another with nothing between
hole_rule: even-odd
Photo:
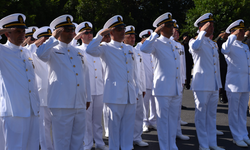
<instances>
[{"instance_id":1,"label":"white uniform jacket of the fourth front-row man from left","mask_svg":"<svg viewBox=\"0 0 250 150\"><path fill-rule=\"evenodd\" d=\"M142 52L153 54L155 70L152 95L181 95L180 55L172 40L158 37L157 33L152 33L141 46Z\"/></svg>"}]
</instances>

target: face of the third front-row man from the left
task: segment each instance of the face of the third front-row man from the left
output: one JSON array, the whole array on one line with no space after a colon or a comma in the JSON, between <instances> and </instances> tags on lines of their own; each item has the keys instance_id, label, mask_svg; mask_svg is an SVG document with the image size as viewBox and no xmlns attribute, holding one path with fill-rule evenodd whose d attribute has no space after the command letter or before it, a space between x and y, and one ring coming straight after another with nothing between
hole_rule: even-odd
<instances>
[{"instance_id":1,"label":"face of the third front-row man from the left","mask_svg":"<svg viewBox=\"0 0 250 150\"><path fill-rule=\"evenodd\" d=\"M115 29L110 32L110 35L112 40L122 42L125 36L125 26L115 27Z\"/></svg>"}]
</instances>

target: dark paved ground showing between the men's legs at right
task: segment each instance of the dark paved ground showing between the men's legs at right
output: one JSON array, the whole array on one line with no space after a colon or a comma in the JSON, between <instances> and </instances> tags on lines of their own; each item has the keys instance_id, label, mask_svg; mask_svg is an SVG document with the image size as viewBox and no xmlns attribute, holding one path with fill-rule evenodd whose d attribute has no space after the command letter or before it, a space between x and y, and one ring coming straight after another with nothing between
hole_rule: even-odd
<instances>
[{"instance_id":1,"label":"dark paved ground showing between the men's legs at right","mask_svg":"<svg viewBox=\"0 0 250 150\"><path fill-rule=\"evenodd\" d=\"M188 125L182 126L182 133L184 135L188 135L190 137L189 141L182 141L177 139L177 146L179 150L198 150L198 139L196 136L196 130L194 125L194 100L193 100L193 93L190 90L185 90L183 95L183 102L182 104L188 109L182 110L181 118L183 121L188 122ZM218 146L225 148L226 150L250 150L249 148L239 148L232 142L232 136L228 127L228 105L218 103L217 108L217 129L224 132L223 136L218 136ZM250 115L248 113L247 118L247 127L248 131L250 131ZM105 143L108 145L108 139L103 137ZM159 150L159 143L157 138L157 131L151 130L148 133L143 133L142 138L145 142L149 143L149 147L141 148L135 146L135 150ZM94 148L92 148L94 150Z\"/></svg>"}]
</instances>

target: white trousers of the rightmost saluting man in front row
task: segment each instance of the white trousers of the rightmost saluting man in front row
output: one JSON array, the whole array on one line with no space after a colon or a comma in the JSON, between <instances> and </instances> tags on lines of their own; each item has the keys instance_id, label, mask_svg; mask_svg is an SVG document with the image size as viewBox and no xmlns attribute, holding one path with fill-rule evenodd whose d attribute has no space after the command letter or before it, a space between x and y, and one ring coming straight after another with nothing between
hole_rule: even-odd
<instances>
[{"instance_id":1,"label":"white trousers of the rightmost saluting man in front row","mask_svg":"<svg viewBox=\"0 0 250 150\"><path fill-rule=\"evenodd\" d=\"M247 107L249 92L228 92L228 122L235 141L249 139L247 131Z\"/></svg>"}]
</instances>

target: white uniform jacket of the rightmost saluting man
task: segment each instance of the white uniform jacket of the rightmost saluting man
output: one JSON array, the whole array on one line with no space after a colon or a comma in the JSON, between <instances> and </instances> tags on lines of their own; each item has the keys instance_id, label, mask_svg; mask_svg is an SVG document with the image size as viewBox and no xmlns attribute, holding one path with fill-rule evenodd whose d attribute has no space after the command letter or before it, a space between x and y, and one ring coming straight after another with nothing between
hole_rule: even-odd
<instances>
[{"instance_id":1,"label":"white uniform jacket of the rightmost saluting man","mask_svg":"<svg viewBox=\"0 0 250 150\"><path fill-rule=\"evenodd\" d=\"M230 92L250 91L250 53L246 44L230 35L222 45L221 52L227 61L225 90Z\"/></svg>"}]
</instances>

